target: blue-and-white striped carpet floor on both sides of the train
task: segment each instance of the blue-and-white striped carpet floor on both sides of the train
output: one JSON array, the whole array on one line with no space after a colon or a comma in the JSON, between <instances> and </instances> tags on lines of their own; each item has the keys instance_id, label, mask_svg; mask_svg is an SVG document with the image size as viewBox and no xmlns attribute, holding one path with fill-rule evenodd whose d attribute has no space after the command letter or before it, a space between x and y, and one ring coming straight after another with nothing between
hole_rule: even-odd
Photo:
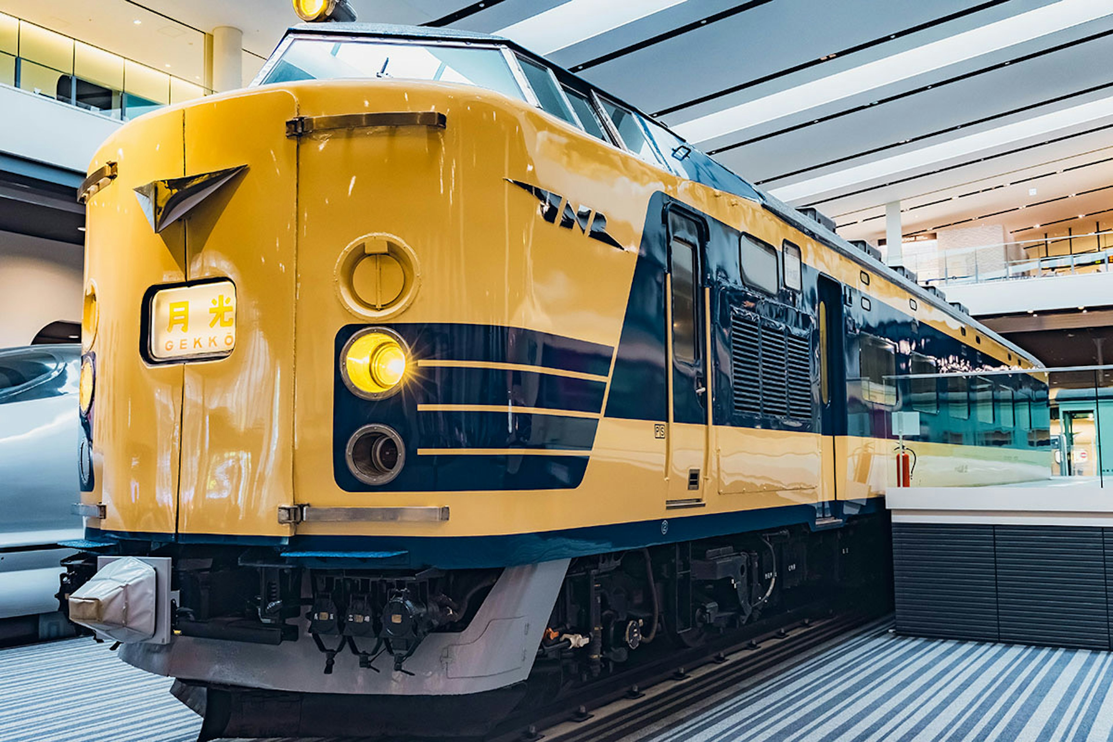
<instances>
[{"instance_id":1,"label":"blue-and-white striped carpet floor on both sides of the train","mask_svg":"<svg viewBox=\"0 0 1113 742\"><path fill-rule=\"evenodd\" d=\"M193 742L170 681L107 644L0 651L0 742ZM629 742L1113 740L1113 653L923 640L873 626Z\"/></svg>"}]
</instances>

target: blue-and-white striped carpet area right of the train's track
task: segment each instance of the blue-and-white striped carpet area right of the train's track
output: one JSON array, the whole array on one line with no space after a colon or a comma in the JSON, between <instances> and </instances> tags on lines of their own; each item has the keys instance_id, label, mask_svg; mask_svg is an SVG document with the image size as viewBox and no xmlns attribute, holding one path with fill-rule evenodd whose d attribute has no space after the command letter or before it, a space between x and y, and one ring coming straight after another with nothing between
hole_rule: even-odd
<instances>
[{"instance_id":1,"label":"blue-and-white striped carpet area right of the train's track","mask_svg":"<svg viewBox=\"0 0 1113 742\"><path fill-rule=\"evenodd\" d=\"M1111 740L1111 652L925 640L874 626L627 740Z\"/></svg>"}]
</instances>

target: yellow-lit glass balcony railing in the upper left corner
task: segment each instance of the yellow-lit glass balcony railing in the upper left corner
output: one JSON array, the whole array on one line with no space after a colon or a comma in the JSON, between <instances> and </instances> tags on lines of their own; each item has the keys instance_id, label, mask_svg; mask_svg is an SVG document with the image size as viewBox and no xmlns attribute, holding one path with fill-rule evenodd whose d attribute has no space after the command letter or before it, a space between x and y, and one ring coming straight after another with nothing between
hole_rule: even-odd
<instances>
[{"instance_id":1,"label":"yellow-lit glass balcony railing in the upper left corner","mask_svg":"<svg viewBox=\"0 0 1113 742\"><path fill-rule=\"evenodd\" d=\"M0 85L127 120L208 88L0 13Z\"/></svg>"}]
</instances>

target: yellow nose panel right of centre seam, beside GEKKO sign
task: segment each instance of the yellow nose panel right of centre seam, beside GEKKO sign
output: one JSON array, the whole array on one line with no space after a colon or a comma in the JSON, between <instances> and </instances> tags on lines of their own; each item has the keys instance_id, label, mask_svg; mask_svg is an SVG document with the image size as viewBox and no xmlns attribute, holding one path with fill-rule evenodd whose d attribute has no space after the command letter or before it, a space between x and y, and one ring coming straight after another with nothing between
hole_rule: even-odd
<instances>
[{"instance_id":1,"label":"yellow nose panel right of centre seam, beside GEKKO sign","mask_svg":"<svg viewBox=\"0 0 1113 742\"><path fill-rule=\"evenodd\" d=\"M238 338L185 365L180 533L289 533L275 513L294 494L297 145L275 122L296 113L270 89L185 109L187 172L248 170L186 224L189 279L236 284Z\"/></svg>"}]
</instances>

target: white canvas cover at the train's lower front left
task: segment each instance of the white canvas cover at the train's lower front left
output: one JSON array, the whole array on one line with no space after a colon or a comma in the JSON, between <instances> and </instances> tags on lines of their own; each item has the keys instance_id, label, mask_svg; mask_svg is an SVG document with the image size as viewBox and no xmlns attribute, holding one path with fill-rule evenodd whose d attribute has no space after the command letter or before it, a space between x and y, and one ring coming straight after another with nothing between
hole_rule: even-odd
<instances>
[{"instance_id":1,"label":"white canvas cover at the train's lower front left","mask_svg":"<svg viewBox=\"0 0 1113 742\"><path fill-rule=\"evenodd\" d=\"M126 556L102 567L69 598L70 621L119 642L155 635L155 567Z\"/></svg>"}]
</instances>

